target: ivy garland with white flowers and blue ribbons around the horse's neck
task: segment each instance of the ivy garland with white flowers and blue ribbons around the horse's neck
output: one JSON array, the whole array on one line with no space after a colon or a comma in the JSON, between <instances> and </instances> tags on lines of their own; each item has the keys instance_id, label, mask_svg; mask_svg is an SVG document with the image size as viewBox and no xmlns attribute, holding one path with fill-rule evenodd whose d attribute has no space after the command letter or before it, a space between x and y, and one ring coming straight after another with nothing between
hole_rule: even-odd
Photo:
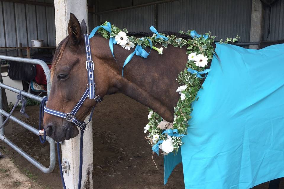
<instances>
[{"instance_id":1,"label":"ivy garland with white flowers and blue ribbons around the horse's neck","mask_svg":"<svg viewBox=\"0 0 284 189\"><path fill-rule=\"evenodd\" d=\"M105 22L103 25L106 26L107 24L108 22ZM150 28L151 31L153 31L153 28ZM127 36L128 31L126 28L121 30L114 25L111 25L110 33L103 28L99 28L98 31L106 39L115 37L117 44L127 50L135 45L141 45L145 49L146 46L150 46L149 40L153 45L152 48L157 50L159 54L162 54L163 48L154 47L157 43L162 44L164 48L167 48L168 44L180 48L187 46L188 60L185 64L186 68L178 74L176 79L181 86L176 90L180 94L180 99L177 106L174 107L173 123L164 121L160 115L149 109L149 123L144 127L144 133L149 131L148 136L145 138L149 139L149 144L153 146L152 150L154 152L159 154L159 149L162 149L164 155L170 152L177 153L183 144L181 138L187 134L188 120L191 118L190 114L193 110L191 107L192 102L199 99L199 97L196 98L196 95L199 89L202 88L200 82L209 71L209 69L206 70L205 68L213 58L214 48L212 43L214 43L215 37L211 36L210 32L199 35L194 30L188 30L187 32L179 31L179 33L190 35L192 39L189 40L177 38L175 35L165 36L158 32L154 33L152 37L135 38L135 36ZM165 38L168 40L164 40ZM224 43L236 42L238 39L237 35L233 40L227 38ZM223 39L220 40L220 43L223 43Z\"/></svg>"}]
</instances>

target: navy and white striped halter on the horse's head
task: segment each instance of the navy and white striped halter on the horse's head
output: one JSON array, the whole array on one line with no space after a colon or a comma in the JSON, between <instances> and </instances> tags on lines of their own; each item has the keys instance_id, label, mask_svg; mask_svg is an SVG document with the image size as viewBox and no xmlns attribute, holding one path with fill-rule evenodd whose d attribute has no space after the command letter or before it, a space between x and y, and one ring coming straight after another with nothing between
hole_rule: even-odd
<instances>
[{"instance_id":1,"label":"navy and white striped halter on the horse's head","mask_svg":"<svg viewBox=\"0 0 284 189\"><path fill-rule=\"evenodd\" d=\"M87 89L85 90L84 94L82 95L81 99L77 102L73 110L69 113L63 113L59 112L57 110L52 110L46 106L44 106L44 112L55 115L57 117L63 118L68 122L74 123L76 126L78 126L81 130L85 131L88 128L86 126L92 119L92 114L94 107L91 110L91 115L88 123L85 123L84 121L78 120L75 115L80 109L80 107L83 105L84 101L89 97L89 99L94 99L96 102L101 102L102 99L99 95L95 94L95 88L96 84L94 83L94 76L93 76L93 70L94 70L94 62L92 61L92 56L91 56L91 48L90 48L90 41L89 41L89 35L84 34L84 39L85 39L85 48L86 48L86 56L87 56L87 61L86 61L86 69L88 71L88 84L87 84ZM89 85L89 87L88 87Z\"/></svg>"}]
</instances>

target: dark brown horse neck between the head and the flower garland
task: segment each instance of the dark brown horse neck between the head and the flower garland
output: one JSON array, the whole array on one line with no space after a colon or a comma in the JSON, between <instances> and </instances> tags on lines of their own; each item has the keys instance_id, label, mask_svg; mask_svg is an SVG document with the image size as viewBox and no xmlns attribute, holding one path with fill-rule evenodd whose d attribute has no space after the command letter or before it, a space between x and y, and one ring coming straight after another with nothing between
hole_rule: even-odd
<instances>
[{"instance_id":1,"label":"dark brown horse neck between the head and the flower garland","mask_svg":"<svg viewBox=\"0 0 284 189\"><path fill-rule=\"evenodd\" d=\"M101 38L101 37L100 37ZM100 39L101 40L101 39ZM109 85L109 93L121 92L141 104L151 108L167 121L173 121L174 107L180 95L176 92L179 84L177 75L185 68L187 62L186 48L174 48L169 45L163 49L163 55L152 50L145 59L134 55L124 68L125 59L134 49L125 50L119 45L114 45L114 61L108 47L108 41L104 39L105 47L101 48L101 54L109 68L114 69L110 73L116 73L110 77L113 83ZM160 45L155 45L160 48ZM149 52L149 48L146 49ZM117 90L113 90L113 89Z\"/></svg>"}]
</instances>

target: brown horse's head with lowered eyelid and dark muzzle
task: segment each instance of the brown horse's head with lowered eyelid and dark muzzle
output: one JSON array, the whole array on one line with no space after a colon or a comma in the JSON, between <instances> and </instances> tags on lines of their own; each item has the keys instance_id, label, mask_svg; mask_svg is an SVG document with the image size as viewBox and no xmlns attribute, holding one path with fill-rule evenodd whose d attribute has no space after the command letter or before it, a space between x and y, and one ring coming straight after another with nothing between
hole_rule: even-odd
<instances>
[{"instance_id":1,"label":"brown horse's head with lowered eyelid and dark muzzle","mask_svg":"<svg viewBox=\"0 0 284 189\"><path fill-rule=\"evenodd\" d=\"M51 68L51 90L46 107L59 112L71 112L73 107L80 100L88 87L88 73L86 71L86 53L83 34L86 34L85 21L80 23L78 19L70 13L68 23L68 36L62 40L55 52ZM92 46L93 44L91 44ZM93 45L94 46L94 45ZM94 82L96 95L103 97L106 94L108 77L105 68L96 52L92 52L94 63ZM96 101L87 98L82 107L76 113L78 120L84 120L91 108L96 105ZM56 141L69 140L78 135L79 131L75 124L66 119L54 115L44 115L44 128L48 136Z\"/></svg>"}]
</instances>

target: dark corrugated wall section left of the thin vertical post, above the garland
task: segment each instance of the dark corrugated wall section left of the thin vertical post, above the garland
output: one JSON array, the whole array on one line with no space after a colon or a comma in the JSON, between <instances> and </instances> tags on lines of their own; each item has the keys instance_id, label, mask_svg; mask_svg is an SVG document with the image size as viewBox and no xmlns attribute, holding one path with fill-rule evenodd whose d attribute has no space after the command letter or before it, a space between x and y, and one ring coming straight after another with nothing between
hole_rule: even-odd
<instances>
[{"instance_id":1,"label":"dark corrugated wall section left of the thin vertical post, above the garland","mask_svg":"<svg viewBox=\"0 0 284 189\"><path fill-rule=\"evenodd\" d=\"M100 15L100 22L108 21L128 31L149 31L155 24L154 5Z\"/></svg>"}]
</instances>

